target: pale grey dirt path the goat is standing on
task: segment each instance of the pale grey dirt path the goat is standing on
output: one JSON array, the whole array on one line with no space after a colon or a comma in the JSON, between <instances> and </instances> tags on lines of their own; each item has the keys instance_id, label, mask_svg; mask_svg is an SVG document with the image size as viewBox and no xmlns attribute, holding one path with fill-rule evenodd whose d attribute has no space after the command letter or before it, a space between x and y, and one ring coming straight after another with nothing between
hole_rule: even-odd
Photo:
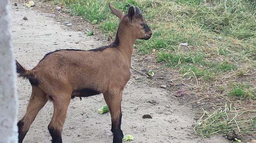
<instances>
[{"instance_id":1,"label":"pale grey dirt path the goat is standing on","mask_svg":"<svg viewBox=\"0 0 256 143\"><path fill-rule=\"evenodd\" d=\"M18 3L18 6L14 6ZM90 49L102 45L97 36L87 36L84 32L73 31L56 19L51 13L36 8L25 8L19 1L11 1L12 38L16 59L28 69L33 68L42 57L55 49ZM23 20L27 17L27 20ZM31 94L29 81L18 79L19 114L22 118ZM175 88L175 87L173 87ZM173 89L176 91L176 89ZM167 93L168 92L168 93ZM168 95L173 92L163 88L139 84L132 80L124 90L122 102L122 130L134 137L131 143L226 143L222 136L212 136L203 140L195 135L194 113L181 107L179 100ZM141 97L141 98L140 98ZM140 98L140 99L139 99ZM137 102L131 102L136 101ZM64 143L110 143L113 136L110 131L110 114L98 114L97 109L105 104L102 95L71 100L62 132ZM51 137L47 126L52 118L52 103L37 115L30 127L24 143L49 143ZM143 119L144 114L152 119Z\"/></svg>"}]
</instances>

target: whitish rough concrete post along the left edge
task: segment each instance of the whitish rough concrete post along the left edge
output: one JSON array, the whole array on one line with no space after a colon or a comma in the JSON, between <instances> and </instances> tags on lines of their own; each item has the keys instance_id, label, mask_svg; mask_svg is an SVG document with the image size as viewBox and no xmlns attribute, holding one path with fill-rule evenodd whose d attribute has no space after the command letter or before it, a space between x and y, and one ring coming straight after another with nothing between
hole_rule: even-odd
<instances>
[{"instance_id":1,"label":"whitish rough concrete post along the left edge","mask_svg":"<svg viewBox=\"0 0 256 143\"><path fill-rule=\"evenodd\" d=\"M0 0L0 143L18 143L18 95L10 20L8 0Z\"/></svg>"}]
</instances>

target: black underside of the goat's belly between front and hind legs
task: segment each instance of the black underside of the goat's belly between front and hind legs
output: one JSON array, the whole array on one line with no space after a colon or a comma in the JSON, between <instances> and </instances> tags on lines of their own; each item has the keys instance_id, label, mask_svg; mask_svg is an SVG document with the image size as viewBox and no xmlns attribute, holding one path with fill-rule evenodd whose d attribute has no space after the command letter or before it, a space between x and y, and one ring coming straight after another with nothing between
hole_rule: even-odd
<instances>
[{"instance_id":1,"label":"black underside of the goat's belly between front and hind legs","mask_svg":"<svg viewBox=\"0 0 256 143\"><path fill-rule=\"evenodd\" d=\"M72 91L72 96L76 96L76 97L88 97L88 96L93 96L93 95L97 95L100 94L101 92L95 91L93 89L90 88L82 88L79 90L73 90Z\"/></svg>"}]
</instances>

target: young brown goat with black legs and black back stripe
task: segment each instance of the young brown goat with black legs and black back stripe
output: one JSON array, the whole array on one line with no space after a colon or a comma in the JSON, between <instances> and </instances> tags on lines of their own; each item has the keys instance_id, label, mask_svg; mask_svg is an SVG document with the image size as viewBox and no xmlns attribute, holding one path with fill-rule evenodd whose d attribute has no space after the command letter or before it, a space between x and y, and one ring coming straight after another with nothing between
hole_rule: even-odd
<instances>
[{"instance_id":1,"label":"young brown goat with black legs and black back stripe","mask_svg":"<svg viewBox=\"0 0 256 143\"><path fill-rule=\"evenodd\" d=\"M19 143L22 143L39 110L50 100L54 112L48 126L52 143L62 143L61 132L69 102L74 97L103 93L112 118L113 143L122 143L121 100L131 72L131 57L136 39L150 39L148 28L139 8L129 5L128 14L111 11L120 19L116 39L108 46L88 51L60 49L47 53L31 70L16 61L19 77L29 79L32 94L25 116L19 120Z\"/></svg>"}]
</instances>

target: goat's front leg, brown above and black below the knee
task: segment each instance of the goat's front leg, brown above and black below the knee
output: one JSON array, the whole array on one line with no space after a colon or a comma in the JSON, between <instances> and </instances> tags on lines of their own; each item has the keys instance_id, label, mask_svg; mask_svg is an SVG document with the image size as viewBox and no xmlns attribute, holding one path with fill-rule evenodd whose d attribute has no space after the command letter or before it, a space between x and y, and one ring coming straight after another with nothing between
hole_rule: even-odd
<instances>
[{"instance_id":1,"label":"goat's front leg, brown above and black below the knee","mask_svg":"<svg viewBox=\"0 0 256 143\"><path fill-rule=\"evenodd\" d=\"M112 127L111 131L113 132L113 143L122 143L122 139L124 137L123 131L121 130L121 120L122 120L122 112L121 112L121 101L122 101L122 93L120 94L109 94L105 93L104 99L109 107L109 111L111 114Z\"/></svg>"}]
</instances>

